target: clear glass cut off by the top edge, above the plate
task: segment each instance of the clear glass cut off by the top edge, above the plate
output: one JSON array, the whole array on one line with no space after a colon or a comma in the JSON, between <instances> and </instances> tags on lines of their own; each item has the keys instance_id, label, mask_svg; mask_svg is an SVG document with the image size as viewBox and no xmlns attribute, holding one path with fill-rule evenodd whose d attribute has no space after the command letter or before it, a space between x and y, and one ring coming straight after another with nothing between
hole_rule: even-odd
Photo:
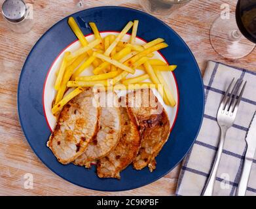
<instances>
[{"instance_id":1,"label":"clear glass cut off by the top edge, above the plate","mask_svg":"<svg viewBox=\"0 0 256 209\"><path fill-rule=\"evenodd\" d=\"M183 7L191 0L139 0L140 5L149 14L167 18L179 7Z\"/></svg>"}]
</instances>

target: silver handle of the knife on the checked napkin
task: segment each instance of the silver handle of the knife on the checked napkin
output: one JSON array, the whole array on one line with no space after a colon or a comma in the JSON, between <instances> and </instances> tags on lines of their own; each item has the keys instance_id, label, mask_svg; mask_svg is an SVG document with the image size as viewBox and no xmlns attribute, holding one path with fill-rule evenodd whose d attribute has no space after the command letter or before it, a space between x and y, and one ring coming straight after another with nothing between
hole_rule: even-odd
<instances>
[{"instance_id":1,"label":"silver handle of the knife on the checked napkin","mask_svg":"<svg viewBox=\"0 0 256 209\"><path fill-rule=\"evenodd\" d=\"M245 196L246 189L249 181L249 174L251 172L251 165L253 165L253 159L247 157L244 159L244 167L240 176L240 182L238 184L237 196Z\"/></svg>"}]
</instances>

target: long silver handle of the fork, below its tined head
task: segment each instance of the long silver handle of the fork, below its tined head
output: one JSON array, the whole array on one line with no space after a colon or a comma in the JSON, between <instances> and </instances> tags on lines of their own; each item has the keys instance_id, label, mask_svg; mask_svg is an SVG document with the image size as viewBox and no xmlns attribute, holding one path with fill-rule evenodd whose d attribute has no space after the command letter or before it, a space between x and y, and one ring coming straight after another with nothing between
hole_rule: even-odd
<instances>
[{"instance_id":1,"label":"long silver handle of the fork, below its tined head","mask_svg":"<svg viewBox=\"0 0 256 209\"><path fill-rule=\"evenodd\" d=\"M219 148L215 157L215 161L213 167L211 169L211 174L208 178L208 182L206 183L206 187L202 193L203 196L212 196L215 179L217 176L217 170L219 168L219 161L221 161L221 153L223 151L224 141L227 133L227 128L221 127L221 138L219 140Z\"/></svg>"}]
</instances>

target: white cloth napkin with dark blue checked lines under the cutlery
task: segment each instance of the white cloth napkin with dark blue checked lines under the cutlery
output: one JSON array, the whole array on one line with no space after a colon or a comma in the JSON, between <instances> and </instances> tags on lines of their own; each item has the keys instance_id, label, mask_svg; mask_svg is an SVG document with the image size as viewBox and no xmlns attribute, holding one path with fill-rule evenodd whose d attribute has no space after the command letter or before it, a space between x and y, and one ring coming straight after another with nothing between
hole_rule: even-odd
<instances>
[{"instance_id":1,"label":"white cloth napkin with dark blue checked lines under the cutlery","mask_svg":"<svg viewBox=\"0 0 256 209\"><path fill-rule=\"evenodd\" d=\"M203 79L206 103L204 120L194 146L183 161L176 195L201 195L204 189L219 142L217 110L233 77L247 80L247 86L234 125L227 132L213 195L236 195L247 148L246 133L256 110L256 72L213 61L208 62ZM256 195L256 155L246 195Z\"/></svg>"}]
</instances>

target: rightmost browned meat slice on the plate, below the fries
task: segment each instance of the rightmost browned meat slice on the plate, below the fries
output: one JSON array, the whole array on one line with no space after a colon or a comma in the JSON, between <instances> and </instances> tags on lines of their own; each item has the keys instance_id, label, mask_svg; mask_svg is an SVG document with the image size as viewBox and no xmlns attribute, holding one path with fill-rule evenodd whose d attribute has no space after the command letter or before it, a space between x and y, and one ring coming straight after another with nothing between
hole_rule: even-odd
<instances>
[{"instance_id":1,"label":"rightmost browned meat slice on the plate, below the fries","mask_svg":"<svg viewBox=\"0 0 256 209\"><path fill-rule=\"evenodd\" d=\"M141 170L148 166L151 172L156 168L155 157L170 135L168 115L151 89L139 89L126 95L128 111L139 124L141 148L133 161L134 168Z\"/></svg>"}]
</instances>

